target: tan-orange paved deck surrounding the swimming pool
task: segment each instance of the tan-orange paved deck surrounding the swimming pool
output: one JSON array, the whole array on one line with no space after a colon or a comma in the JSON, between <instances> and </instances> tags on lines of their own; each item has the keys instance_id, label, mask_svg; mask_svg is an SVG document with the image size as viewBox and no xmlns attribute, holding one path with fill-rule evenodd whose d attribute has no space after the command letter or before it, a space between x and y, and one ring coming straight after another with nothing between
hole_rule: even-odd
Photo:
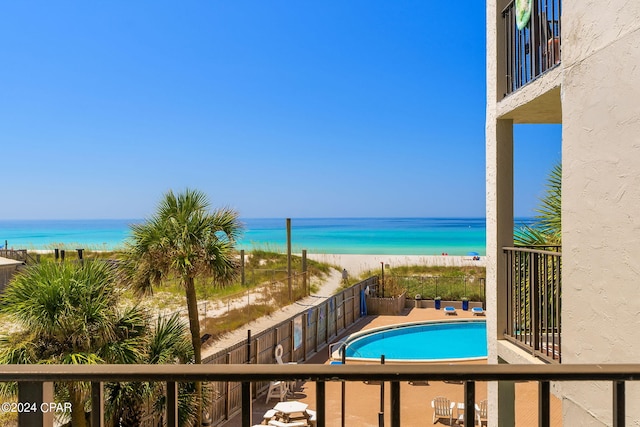
<instances>
[{"instance_id":1,"label":"tan-orange paved deck surrounding the swimming pool","mask_svg":"<svg viewBox=\"0 0 640 427\"><path fill-rule=\"evenodd\" d=\"M367 316L362 321L356 323L348 329L344 335L360 330L371 329L380 326L394 325L398 323L417 322L423 320L455 320L462 318L478 318L471 312L457 310L457 315L445 315L442 310L430 308L407 309L400 316ZM307 363L326 364L329 363L328 351L321 351ZM485 364L486 361L459 362L467 364ZM326 384L326 414L327 426L339 427L341 425L341 395L342 384L339 382L329 382ZM377 427L378 412L380 410L380 385L368 385L362 382L346 383L346 420L347 426ZM444 383L430 381L428 384L400 385L401 402L401 425L402 426L423 426L432 425L431 400L436 396L444 396L451 401L462 402L464 400L464 385L456 383ZM389 409L390 387L385 387L385 425L390 425ZM487 397L487 383L476 383L476 402ZM289 400L299 400L309 405L309 409L316 409L315 383L298 382L295 394ZM262 415L271 409L278 401L271 399L269 403L264 402L265 396L253 402L253 424L262 421ZM455 410L454 410L455 415ZM447 422L438 421L436 425L447 425ZM455 422L454 422L455 424ZM240 427L239 416L224 424L225 427ZM537 383L516 383L516 425L537 426L538 425L538 386ZM551 425L562 425L561 402L552 396L551 399Z\"/></svg>"}]
</instances>

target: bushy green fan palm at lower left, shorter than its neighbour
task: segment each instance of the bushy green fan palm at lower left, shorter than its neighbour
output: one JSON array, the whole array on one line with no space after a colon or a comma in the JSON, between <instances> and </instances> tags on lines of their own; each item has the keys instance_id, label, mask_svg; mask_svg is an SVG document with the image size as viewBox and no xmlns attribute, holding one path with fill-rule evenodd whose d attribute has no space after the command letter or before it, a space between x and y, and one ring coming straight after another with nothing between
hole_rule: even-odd
<instances>
[{"instance_id":1,"label":"bushy green fan palm at lower left, shorter than its neighbour","mask_svg":"<svg viewBox=\"0 0 640 427\"><path fill-rule=\"evenodd\" d=\"M28 267L0 303L21 327L0 340L0 363L140 363L146 315L137 307L119 309L113 271L105 263ZM85 427L87 385L56 384L56 395L71 402L72 425Z\"/></svg>"}]
</instances>

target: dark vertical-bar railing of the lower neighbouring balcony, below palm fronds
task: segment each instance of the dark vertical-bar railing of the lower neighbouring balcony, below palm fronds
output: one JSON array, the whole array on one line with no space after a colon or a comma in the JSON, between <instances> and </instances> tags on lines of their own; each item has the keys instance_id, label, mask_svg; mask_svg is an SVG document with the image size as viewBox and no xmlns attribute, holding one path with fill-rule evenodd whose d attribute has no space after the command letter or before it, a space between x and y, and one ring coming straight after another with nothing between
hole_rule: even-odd
<instances>
[{"instance_id":1,"label":"dark vertical-bar railing of the lower neighbouring balcony, below palm fronds","mask_svg":"<svg viewBox=\"0 0 640 427\"><path fill-rule=\"evenodd\" d=\"M545 250L555 249L555 250ZM504 248L507 257L507 340L560 363L560 248Z\"/></svg>"}]
</instances>

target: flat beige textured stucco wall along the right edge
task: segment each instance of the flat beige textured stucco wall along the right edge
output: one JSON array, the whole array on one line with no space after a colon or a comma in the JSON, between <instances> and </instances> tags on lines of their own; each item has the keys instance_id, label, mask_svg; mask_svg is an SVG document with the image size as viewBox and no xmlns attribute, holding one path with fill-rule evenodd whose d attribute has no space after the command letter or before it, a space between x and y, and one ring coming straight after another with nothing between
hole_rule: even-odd
<instances>
[{"instance_id":1,"label":"flat beige textured stucco wall along the right edge","mask_svg":"<svg viewBox=\"0 0 640 427\"><path fill-rule=\"evenodd\" d=\"M640 2L563 8L563 362L640 363ZM565 421L611 424L610 384L563 391Z\"/></svg>"}]
</instances>

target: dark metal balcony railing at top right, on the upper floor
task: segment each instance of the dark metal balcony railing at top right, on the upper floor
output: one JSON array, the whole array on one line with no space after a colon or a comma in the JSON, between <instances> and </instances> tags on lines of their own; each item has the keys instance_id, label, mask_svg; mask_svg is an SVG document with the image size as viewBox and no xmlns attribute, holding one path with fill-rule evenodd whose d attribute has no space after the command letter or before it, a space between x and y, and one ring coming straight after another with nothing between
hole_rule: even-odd
<instances>
[{"instance_id":1,"label":"dark metal balcony railing at top right, on the upper floor","mask_svg":"<svg viewBox=\"0 0 640 427\"><path fill-rule=\"evenodd\" d=\"M515 0L502 11L506 46L505 95L560 64L562 0L531 0L529 21L518 29Z\"/></svg>"}]
</instances>

